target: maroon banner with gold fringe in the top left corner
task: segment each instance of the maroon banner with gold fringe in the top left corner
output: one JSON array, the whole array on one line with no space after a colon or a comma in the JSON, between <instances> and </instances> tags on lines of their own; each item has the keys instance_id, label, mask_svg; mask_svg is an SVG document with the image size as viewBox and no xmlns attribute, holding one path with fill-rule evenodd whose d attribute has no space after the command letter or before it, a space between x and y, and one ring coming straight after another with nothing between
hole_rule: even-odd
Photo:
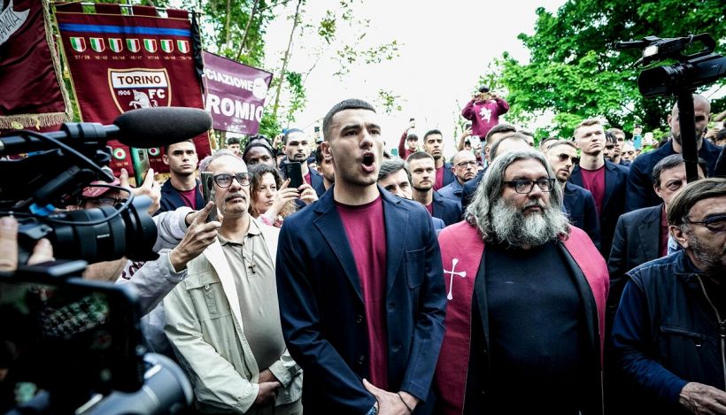
<instances>
[{"instance_id":1,"label":"maroon banner with gold fringe in the top left corner","mask_svg":"<svg viewBox=\"0 0 726 415\"><path fill-rule=\"evenodd\" d=\"M41 0L0 0L0 129L70 119L47 8Z\"/></svg>"}]
</instances>

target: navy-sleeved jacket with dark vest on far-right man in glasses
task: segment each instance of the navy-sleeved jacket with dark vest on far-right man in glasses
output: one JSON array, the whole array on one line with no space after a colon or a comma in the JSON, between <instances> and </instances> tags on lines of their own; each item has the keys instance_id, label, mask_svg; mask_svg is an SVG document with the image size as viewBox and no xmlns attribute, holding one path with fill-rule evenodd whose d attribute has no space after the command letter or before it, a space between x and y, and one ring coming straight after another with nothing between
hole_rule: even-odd
<instances>
[{"instance_id":1,"label":"navy-sleeved jacket with dark vest on far-right man in glasses","mask_svg":"<svg viewBox=\"0 0 726 415\"><path fill-rule=\"evenodd\" d=\"M683 250L628 273L615 315L617 365L649 413L685 413L678 395L687 382L726 388L720 321L698 270ZM721 316L721 319L724 317Z\"/></svg>"}]
</instances>

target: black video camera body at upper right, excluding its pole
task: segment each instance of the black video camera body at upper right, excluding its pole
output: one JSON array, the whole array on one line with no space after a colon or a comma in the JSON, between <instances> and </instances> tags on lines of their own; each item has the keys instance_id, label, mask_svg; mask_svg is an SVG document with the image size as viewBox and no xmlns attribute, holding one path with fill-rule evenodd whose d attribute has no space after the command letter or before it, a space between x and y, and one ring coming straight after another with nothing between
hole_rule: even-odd
<instances>
[{"instance_id":1,"label":"black video camera body at upper right, excluding its pole","mask_svg":"<svg viewBox=\"0 0 726 415\"><path fill-rule=\"evenodd\" d=\"M685 55L684 50L701 43L703 49ZM646 69L637 78L637 88L646 98L674 95L679 90L694 90L717 81L726 75L726 58L714 53L716 42L706 33L661 39L646 36L634 42L618 42L617 49L637 48L643 57L637 63L650 65L666 59L676 59L677 64Z\"/></svg>"}]
</instances>

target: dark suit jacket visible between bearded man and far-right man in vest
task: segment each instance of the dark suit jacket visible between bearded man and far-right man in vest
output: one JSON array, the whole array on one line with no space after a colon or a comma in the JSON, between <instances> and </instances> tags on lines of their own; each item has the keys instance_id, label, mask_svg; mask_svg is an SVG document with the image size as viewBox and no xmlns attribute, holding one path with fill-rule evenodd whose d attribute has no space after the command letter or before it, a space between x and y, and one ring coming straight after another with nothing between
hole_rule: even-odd
<instances>
[{"instance_id":1,"label":"dark suit jacket visible between bearded man and far-right man in vest","mask_svg":"<svg viewBox=\"0 0 726 415\"><path fill-rule=\"evenodd\" d=\"M660 257L660 213L663 205L629 211L618 219L613 248L607 260L610 273L610 295L607 296L607 317L612 324L620 304L625 273L638 265Z\"/></svg>"}]
</instances>

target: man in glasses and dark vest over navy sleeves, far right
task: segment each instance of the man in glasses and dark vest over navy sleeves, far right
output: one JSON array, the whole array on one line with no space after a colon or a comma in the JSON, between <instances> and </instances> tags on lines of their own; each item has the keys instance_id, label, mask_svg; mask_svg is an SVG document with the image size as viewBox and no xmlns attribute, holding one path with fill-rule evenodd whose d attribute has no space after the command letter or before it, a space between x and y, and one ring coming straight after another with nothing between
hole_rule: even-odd
<instances>
[{"instance_id":1,"label":"man in glasses and dark vest over navy sleeves, far right","mask_svg":"<svg viewBox=\"0 0 726 415\"><path fill-rule=\"evenodd\" d=\"M726 413L726 179L689 183L668 231L683 250L627 273L613 327L623 384L647 413Z\"/></svg>"}]
</instances>

